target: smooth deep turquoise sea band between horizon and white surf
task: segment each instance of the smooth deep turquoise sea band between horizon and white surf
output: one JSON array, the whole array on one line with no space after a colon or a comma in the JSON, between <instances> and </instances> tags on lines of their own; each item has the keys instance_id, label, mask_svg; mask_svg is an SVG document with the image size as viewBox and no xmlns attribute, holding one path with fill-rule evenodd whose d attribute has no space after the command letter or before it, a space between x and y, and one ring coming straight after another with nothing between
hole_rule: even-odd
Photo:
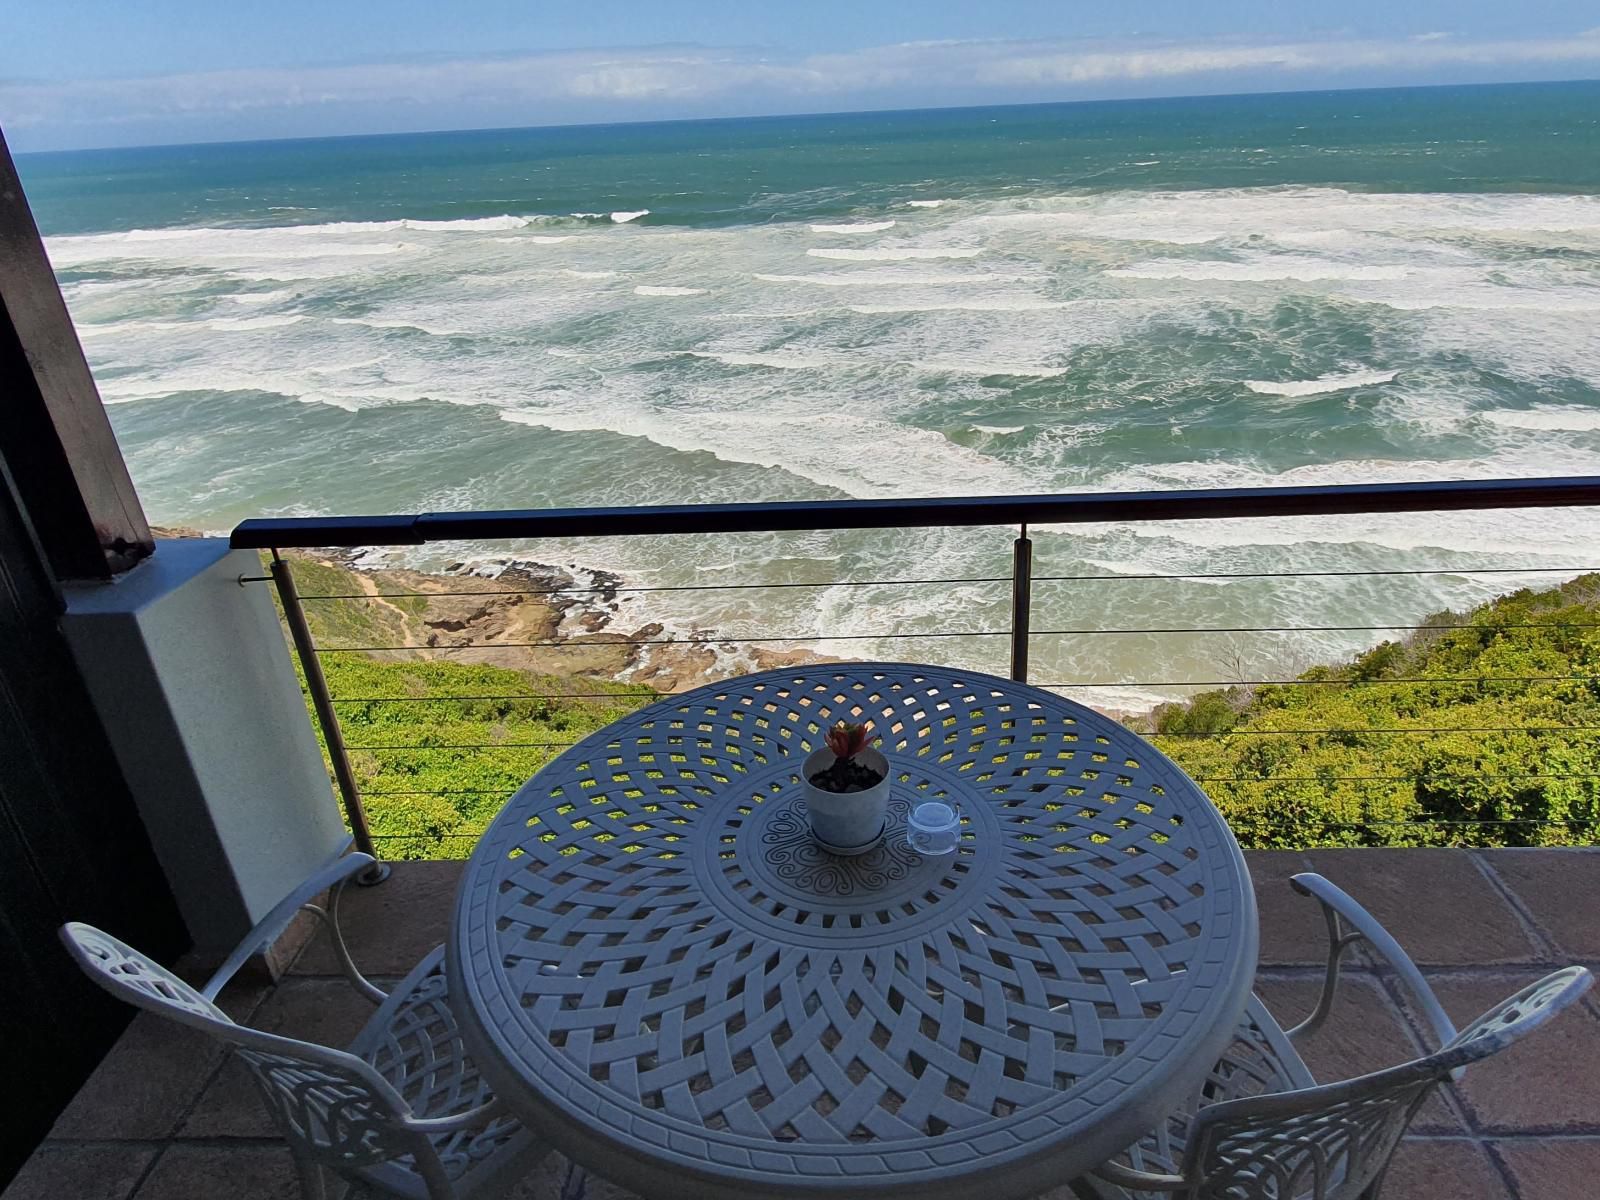
<instances>
[{"instance_id":1,"label":"smooth deep turquoise sea band between horizon and white surf","mask_svg":"<svg viewBox=\"0 0 1600 1200\"><path fill-rule=\"evenodd\" d=\"M706 227L846 218L917 189L1595 192L1597 115L1600 83L1539 83L170 146L21 168L46 234L638 208Z\"/></svg>"}]
</instances>

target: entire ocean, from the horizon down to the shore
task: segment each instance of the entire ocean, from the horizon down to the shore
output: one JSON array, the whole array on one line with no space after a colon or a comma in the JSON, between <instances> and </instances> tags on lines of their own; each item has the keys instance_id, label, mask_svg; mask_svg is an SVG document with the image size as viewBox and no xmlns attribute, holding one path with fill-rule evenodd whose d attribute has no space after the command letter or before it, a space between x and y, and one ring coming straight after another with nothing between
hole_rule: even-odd
<instances>
[{"instance_id":1,"label":"entire ocean, from the horizon down to the shore","mask_svg":"<svg viewBox=\"0 0 1600 1200\"><path fill-rule=\"evenodd\" d=\"M1600 474L1600 83L18 166L162 523ZM1277 678L1563 578L1533 568L1600 566L1592 517L1562 510L1034 534L1051 576L1034 677L1122 707ZM645 592L624 611L1003 669L1003 637L939 634L1006 627L1013 536L824 530L373 562L520 555L677 589L973 581ZM1088 632L1176 626L1360 629Z\"/></svg>"}]
</instances>

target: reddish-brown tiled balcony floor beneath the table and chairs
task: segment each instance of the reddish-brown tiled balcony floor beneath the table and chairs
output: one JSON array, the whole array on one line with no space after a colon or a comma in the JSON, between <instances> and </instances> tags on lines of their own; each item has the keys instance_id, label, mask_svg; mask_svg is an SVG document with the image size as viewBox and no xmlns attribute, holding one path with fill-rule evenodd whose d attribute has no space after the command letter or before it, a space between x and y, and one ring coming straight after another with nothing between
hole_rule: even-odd
<instances>
[{"instance_id":1,"label":"reddish-brown tiled balcony floor beneath the table and chairs","mask_svg":"<svg viewBox=\"0 0 1600 1200\"><path fill-rule=\"evenodd\" d=\"M1366 904L1424 965L1440 1000L1469 1019L1557 965L1600 968L1600 850L1251 854L1261 899L1258 990L1290 1022L1320 979L1315 906L1285 880L1320 870ZM403 974L443 938L456 862L408 862L352 890L346 928L374 978ZM1334 1019L1306 1048L1320 1080L1418 1053L1421 1026L1395 981L1357 963ZM371 1011L338 981L328 947L307 946L275 987L226 994L237 1019L342 1043ZM1403 1144L1386 1200L1581 1200L1600 1176L1600 1003L1475 1067L1430 1101ZM552 1155L520 1200L613 1200L579 1189ZM61 1115L3 1200L294 1200L288 1152L250 1082L203 1037L141 1014ZM339 1189L330 1187L339 1197Z\"/></svg>"}]
</instances>

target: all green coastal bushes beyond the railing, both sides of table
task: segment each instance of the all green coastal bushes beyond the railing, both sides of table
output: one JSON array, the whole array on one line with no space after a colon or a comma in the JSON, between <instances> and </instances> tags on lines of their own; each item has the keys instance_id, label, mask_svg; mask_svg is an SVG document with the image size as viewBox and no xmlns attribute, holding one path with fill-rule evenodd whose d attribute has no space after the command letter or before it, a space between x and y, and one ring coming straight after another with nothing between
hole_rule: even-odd
<instances>
[{"instance_id":1,"label":"all green coastal bushes beyond the railing, both sides of table","mask_svg":"<svg viewBox=\"0 0 1600 1200\"><path fill-rule=\"evenodd\" d=\"M296 558L306 595L370 584ZM427 600L307 603L318 645L403 645ZM1437 613L1291 685L1227 688L1130 723L1250 848L1600 842L1600 574ZM562 747L650 688L453 661L323 654L389 858L464 858Z\"/></svg>"}]
</instances>

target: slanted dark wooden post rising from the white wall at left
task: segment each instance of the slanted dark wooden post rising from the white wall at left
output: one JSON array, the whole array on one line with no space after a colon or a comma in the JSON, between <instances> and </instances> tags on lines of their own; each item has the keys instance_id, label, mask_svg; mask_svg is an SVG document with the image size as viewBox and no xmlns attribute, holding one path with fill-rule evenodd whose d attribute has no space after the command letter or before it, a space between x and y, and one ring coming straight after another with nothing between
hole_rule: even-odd
<instances>
[{"instance_id":1,"label":"slanted dark wooden post rising from the white wall at left","mask_svg":"<svg viewBox=\"0 0 1600 1200\"><path fill-rule=\"evenodd\" d=\"M0 134L0 454L58 579L155 547Z\"/></svg>"}]
</instances>

